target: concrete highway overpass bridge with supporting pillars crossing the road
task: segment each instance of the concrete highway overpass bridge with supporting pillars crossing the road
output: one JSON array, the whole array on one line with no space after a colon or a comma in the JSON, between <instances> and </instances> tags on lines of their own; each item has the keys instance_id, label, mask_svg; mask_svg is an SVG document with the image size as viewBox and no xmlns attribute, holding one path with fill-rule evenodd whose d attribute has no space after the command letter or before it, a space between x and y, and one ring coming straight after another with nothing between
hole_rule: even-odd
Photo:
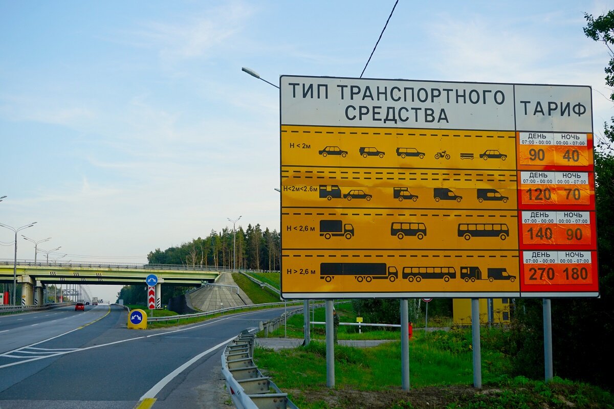
<instances>
[{"instance_id":1,"label":"concrete highway overpass bridge with supporting pillars crossing the road","mask_svg":"<svg viewBox=\"0 0 614 409\"><path fill-rule=\"evenodd\" d=\"M0 282L12 283L14 278L21 284L21 304L41 305L42 290L46 285L64 284L110 284L146 285L150 274L158 277L156 286L157 304L160 300L160 285L200 286L216 280L221 272L231 271L215 267L190 267L171 264L117 264L103 262L34 262L0 260Z\"/></svg>"}]
</instances>

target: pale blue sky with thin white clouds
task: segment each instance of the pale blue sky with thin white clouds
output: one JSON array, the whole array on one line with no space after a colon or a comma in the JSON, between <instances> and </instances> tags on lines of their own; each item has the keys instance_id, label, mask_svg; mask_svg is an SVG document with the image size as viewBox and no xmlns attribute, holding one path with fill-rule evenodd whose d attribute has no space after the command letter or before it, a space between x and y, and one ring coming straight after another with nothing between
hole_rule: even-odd
<instances>
[{"instance_id":1,"label":"pale blue sky with thin white clouds","mask_svg":"<svg viewBox=\"0 0 614 409\"><path fill-rule=\"evenodd\" d=\"M0 0L0 223L37 221L20 233L63 260L118 262L239 215L279 229L278 90L241 67L358 77L393 4ZM609 57L583 13L611 7L400 0L364 77L590 85L599 136Z\"/></svg>"}]
</instances>

